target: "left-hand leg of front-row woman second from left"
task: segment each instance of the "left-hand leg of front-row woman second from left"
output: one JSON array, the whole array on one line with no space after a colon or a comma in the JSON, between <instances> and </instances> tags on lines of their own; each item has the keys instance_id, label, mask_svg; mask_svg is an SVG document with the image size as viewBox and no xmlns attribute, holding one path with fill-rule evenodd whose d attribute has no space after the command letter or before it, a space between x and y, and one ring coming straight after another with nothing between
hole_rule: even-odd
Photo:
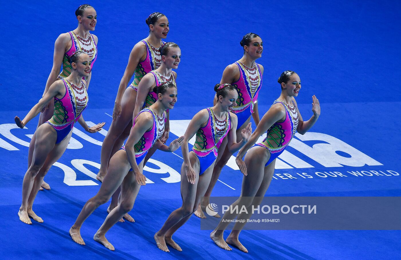
<instances>
[{"instance_id":1,"label":"left-hand leg of front-row woman second from left","mask_svg":"<svg viewBox=\"0 0 401 260\"><path fill-rule=\"evenodd\" d=\"M122 181L124 180L128 170L130 170L130 163L128 162L126 151L119 150L114 154L110 160L110 165L104 182L101 184L99 192L89 199L83 206L81 213L79 213L77 220L70 228L71 238L78 244L85 245L81 237L81 226L83 222L89 217L97 207L105 204L111 195L117 190Z\"/></svg>"}]
</instances>

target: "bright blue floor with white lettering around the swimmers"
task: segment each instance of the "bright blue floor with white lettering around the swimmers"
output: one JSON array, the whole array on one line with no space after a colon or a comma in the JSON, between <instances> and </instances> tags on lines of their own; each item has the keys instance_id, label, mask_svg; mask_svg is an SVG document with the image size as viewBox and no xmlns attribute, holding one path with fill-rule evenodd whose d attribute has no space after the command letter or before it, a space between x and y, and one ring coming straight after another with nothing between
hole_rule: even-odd
<instances>
[{"instance_id":1,"label":"bright blue floor with white lettering around the swimmers","mask_svg":"<svg viewBox=\"0 0 401 260\"><path fill-rule=\"evenodd\" d=\"M117 223L107 233L115 252L92 239L107 215L107 205L99 207L84 223L81 234L86 246L75 244L68 230L83 204L99 189L100 182L93 176L100 163L101 141L111 123L108 114L112 113L129 53L148 35L144 21L155 11L166 14L170 22L167 40L176 42L182 51L176 70L179 99L171 112L175 126L170 140L185 131L181 127L184 121L178 120L189 120L200 109L211 106L213 86L219 83L225 66L242 56L239 41L244 34L255 32L264 43L262 58L257 61L265 68L260 114L279 96L277 78L284 70L296 71L302 80L297 102L303 118L312 116L313 94L322 108L311 132L297 134L288 154L280 156L266 196L400 196L401 175L366 174L387 170L401 174L401 121L397 116L401 105L400 3L90 2L98 14L94 34L99 38L99 54L84 115L85 120L96 124L106 122L105 131L86 135L77 126L70 149L46 176L51 190L39 192L35 200L34 210L45 222L28 226L20 222L17 212L27 144L37 118L27 129L17 129L13 118L25 116L41 98L53 62L54 41L59 34L76 28L74 12L82 2L3 2L1 258L398 259L401 232L397 230L244 230L240 238L249 250L245 254L215 246L210 231L200 230L196 217L174 235L183 251L164 253L156 247L153 234L181 204L180 150L176 155L158 151L154 163L148 164L153 170L148 168L144 174L151 182L141 188L131 212L136 222ZM362 171L362 176L357 174ZM341 172L347 177L322 177L319 173L324 172ZM285 173L306 173L313 178L282 178ZM226 166L219 179L213 196L239 196L239 170Z\"/></svg>"}]
</instances>

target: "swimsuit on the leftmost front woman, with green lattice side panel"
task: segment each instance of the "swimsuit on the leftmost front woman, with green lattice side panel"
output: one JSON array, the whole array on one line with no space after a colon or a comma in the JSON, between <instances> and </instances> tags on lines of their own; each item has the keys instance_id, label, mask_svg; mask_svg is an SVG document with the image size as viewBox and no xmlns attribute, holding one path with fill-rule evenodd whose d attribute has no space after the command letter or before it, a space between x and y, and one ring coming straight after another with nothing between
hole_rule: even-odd
<instances>
[{"instance_id":1,"label":"swimsuit on the leftmost front woman, with green lattice side panel","mask_svg":"<svg viewBox=\"0 0 401 260\"><path fill-rule=\"evenodd\" d=\"M64 82L65 94L63 98L54 98L54 114L47 121L57 132L56 144L73 130L75 122L78 121L89 100L83 80L80 87L65 78L61 80Z\"/></svg>"}]
</instances>

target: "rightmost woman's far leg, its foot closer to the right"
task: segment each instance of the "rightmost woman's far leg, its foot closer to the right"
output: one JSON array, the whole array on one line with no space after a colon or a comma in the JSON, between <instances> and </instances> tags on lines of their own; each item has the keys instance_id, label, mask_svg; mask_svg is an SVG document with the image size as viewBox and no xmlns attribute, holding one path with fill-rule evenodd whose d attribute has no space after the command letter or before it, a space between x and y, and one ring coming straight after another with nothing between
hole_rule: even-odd
<instances>
[{"instance_id":1,"label":"rightmost woman's far leg, its foot closer to the right","mask_svg":"<svg viewBox=\"0 0 401 260\"><path fill-rule=\"evenodd\" d=\"M249 206L247 208L248 213L243 212L243 213L239 214L238 219L245 220L245 219L251 218L252 206L255 207L255 206L259 206L261 204L261 202L265 196L265 193L267 191L267 188L269 188L271 178L274 173L274 166L275 166L275 160L273 160L273 162L271 162L269 165L267 165L265 167L262 183L259 187L259 190L256 192L255 198L253 198L251 206ZM236 222L233 227L233 230L231 230L231 233L227 237L226 242L228 244L231 244L231 245L237 247L239 250L247 253L248 250L245 248L245 246L243 246L241 244L241 242L239 242L239 239L238 239L239 233L241 232L241 230L243 229L245 224L246 223Z\"/></svg>"}]
</instances>

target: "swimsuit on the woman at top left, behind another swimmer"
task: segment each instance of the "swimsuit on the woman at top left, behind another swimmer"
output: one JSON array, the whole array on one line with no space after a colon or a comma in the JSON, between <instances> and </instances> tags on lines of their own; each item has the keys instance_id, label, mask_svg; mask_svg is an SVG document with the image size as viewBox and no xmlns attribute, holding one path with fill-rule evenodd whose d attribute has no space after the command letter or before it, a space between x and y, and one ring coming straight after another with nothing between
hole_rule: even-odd
<instances>
[{"instance_id":1,"label":"swimsuit on the woman at top left, behind another swimmer","mask_svg":"<svg viewBox=\"0 0 401 260\"><path fill-rule=\"evenodd\" d=\"M85 44L89 44L89 45L85 45L84 42L81 42L79 40L79 36L77 36L77 34L75 34L73 31L68 32L71 36L71 48L64 54L64 58L63 58L63 64L62 64L62 70L60 75L58 76L59 79L61 78L65 78L67 76L69 76L71 74L71 64L69 62L69 58L71 55L73 55L74 52L76 51L82 51L85 52L89 55L89 58L91 58L91 70L93 68L93 64L96 61L97 58L97 45L95 42L95 39L93 38L93 35L89 33L89 37L87 40L87 42L85 42ZM84 78L86 80L86 78Z\"/></svg>"}]
</instances>

